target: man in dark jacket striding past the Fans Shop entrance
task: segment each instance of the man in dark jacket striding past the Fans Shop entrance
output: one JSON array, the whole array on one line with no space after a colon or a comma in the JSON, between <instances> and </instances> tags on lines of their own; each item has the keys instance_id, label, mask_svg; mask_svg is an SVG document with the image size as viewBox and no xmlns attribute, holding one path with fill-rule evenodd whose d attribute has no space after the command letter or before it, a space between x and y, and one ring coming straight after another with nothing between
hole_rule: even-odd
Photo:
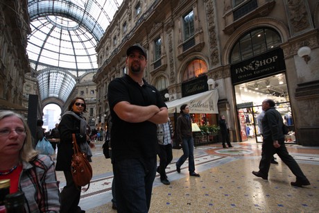
<instances>
[{"instance_id":1,"label":"man in dark jacket striding past the Fans Shop entrance","mask_svg":"<svg viewBox=\"0 0 319 213\"><path fill-rule=\"evenodd\" d=\"M271 99L264 100L262 109L265 111L265 116L261 121L264 135L261 161L259 163L259 171L252 171L252 173L259 178L267 180L270 160L272 159L272 156L277 153L296 176L296 181L291 182L291 185L295 187L310 185L309 180L304 176L304 173L297 162L289 155L286 149L284 144L284 133L282 132L282 115L275 110L275 101Z\"/></svg>"}]
</instances>

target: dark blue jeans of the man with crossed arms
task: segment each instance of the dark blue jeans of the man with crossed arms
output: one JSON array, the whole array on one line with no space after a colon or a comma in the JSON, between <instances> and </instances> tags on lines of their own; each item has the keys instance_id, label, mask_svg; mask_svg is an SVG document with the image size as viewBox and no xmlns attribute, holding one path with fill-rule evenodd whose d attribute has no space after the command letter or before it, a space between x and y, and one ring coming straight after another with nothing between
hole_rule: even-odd
<instances>
[{"instance_id":1,"label":"dark blue jeans of the man with crossed arms","mask_svg":"<svg viewBox=\"0 0 319 213\"><path fill-rule=\"evenodd\" d=\"M156 160L154 156L113 162L117 212L148 212Z\"/></svg>"}]
</instances>

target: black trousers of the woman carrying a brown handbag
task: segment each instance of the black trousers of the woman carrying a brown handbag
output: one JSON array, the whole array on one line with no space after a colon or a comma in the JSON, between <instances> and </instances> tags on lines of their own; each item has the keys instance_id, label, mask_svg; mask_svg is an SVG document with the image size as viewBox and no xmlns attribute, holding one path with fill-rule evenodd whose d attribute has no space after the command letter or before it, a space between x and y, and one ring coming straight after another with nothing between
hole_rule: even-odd
<instances>
[{"instance_id":1,"label":"black trousers of the woman carrying a brown handbag","mask_svg":"<svg viewBox=\"0 0 319 213\"><path fill-rule=\"evenodd\" d=\"M63 171L67 185L63 187L60 194L60 212L80 212L81 208L78 207L80 202L81 187L74 184L71 171Z\"/></svg>"}]
</instances>

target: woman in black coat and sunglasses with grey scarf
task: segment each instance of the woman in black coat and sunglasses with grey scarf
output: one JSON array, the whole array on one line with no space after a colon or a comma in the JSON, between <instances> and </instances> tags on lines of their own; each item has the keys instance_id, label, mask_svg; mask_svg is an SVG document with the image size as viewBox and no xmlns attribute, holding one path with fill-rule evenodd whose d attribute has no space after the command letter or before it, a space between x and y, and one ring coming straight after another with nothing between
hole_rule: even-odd
<instances>
[{"instance_id":1,"label":"woman in black coat and sunglasses with grey scarf","mask_svg":"<svg viewBox=\"0 0 319 213\"><path fill-rule=\"evenodd\" d=\"M60 132L60 143L58 144L58 156L55 166L56 171L63 171L67 185L60 194L60 212L83 212L78 206L80 201L81 187L74 184L71 175L71 158L74 154L72 144L72 134L76 135L76 142L81 151L87 153L91 161L92 152L89 148L94 144L89 144L89 136L86 133L87 122L82 117L86 109L85 100L77 97L69 104L68 111L62 116L58 129ZM89 145L88 145L89 144Z\"/></svg>"}]
</instances>

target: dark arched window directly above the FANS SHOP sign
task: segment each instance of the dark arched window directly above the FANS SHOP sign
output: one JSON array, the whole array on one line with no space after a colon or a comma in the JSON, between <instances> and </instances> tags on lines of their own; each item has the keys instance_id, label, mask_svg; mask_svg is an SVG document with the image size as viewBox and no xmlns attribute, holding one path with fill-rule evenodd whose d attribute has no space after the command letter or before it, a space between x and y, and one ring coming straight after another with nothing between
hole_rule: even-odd
<instances>
[{"instance_id":1,"label":"dark arched window directly above the FANS SHOP sign","mask_svg":"<svg viewBox=\"0 0 319 213\"><path fill-rule=\"evenodd\" d=\"M234 44L230 53L230 63L240 62L273 49L282 40L279 34L271 28L257 28L243 35Z\"/></svg>"}]
</instances>

